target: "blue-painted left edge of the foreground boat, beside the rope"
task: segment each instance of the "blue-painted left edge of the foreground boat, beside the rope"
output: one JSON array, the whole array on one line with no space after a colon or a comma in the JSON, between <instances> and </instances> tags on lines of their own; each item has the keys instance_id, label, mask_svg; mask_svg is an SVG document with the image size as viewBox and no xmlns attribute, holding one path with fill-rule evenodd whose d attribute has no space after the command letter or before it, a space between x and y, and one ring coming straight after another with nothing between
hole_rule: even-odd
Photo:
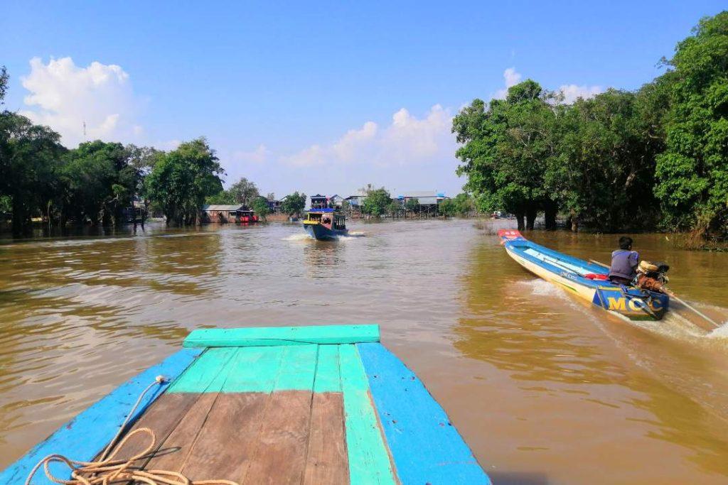
<instances>
[{"instance_id":1,"label":"blue-painted left edge of the foreground boat, beside the rope","mask_svg":"<svg viewBox=\"0 0 728 485\"><path fill-rule=\"evenodd\" d=\"M136 377L127 380L107 396L92 404L73 420L61 426L45 441L37 444L24 457L10 465L0 473L0 484L16 485L25 483L28 473L39 460L49 454L63 454L72 460L89 461L100 452L104 446L114 438L119 426L127 417L133 404L141 391L146 388L158 375L168 377L170 380L178 377L194 358L202 352L200 349L183 349L166 358L162 363L151 366ZM154 399L159 396L167 384L152 388L141 401L131 422L134 422ZM63 465L51 465L51 470L58 478L69 479L71 473ZM33 485L52 484L43 471L36 473Z\"/></svg>"}]
</instances>

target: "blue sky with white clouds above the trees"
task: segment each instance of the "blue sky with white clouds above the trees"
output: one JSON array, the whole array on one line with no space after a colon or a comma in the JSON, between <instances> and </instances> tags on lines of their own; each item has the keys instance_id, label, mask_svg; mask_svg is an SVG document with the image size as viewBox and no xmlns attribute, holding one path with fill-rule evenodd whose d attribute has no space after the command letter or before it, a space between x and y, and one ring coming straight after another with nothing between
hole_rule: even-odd
<instances>
[{"instance_id":1,"label":"blue sky with white clouds above the trees","mask_svg":"<svg viewBox=\"0 0 728 485\"><path fill-rule=\"evenodd\" d=\"M3 2L6 106L87 137L204 135L228 182L279 196L457 193L449 120L531 78L636 89L718 1ZM31 60L36 59L31 63ZM509 70L509 71L506 71Z\"/></svg>"}]
</instances>

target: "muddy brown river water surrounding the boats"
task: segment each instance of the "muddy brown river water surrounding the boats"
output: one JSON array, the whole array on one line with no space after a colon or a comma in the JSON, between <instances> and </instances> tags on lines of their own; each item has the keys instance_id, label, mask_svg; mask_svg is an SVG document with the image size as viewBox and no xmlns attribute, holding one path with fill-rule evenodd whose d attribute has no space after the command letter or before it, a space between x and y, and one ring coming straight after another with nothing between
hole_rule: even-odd
<instances>
[{"instance_id":1,"label":"muddy brown river water surrounding the boats","mask_svg":"<svg viewBox=\"0 0 728 485\"><path fill-rule=\"evenodd\" d=\"M378 323L496 484L728 483L728 325L622 321L527 273L486 221L349 228L0 241L0 469L198 326ZM604 261L616 239L526 236ZM728 253L635 239L728 320Z\"/></svg>"}]
</instances>

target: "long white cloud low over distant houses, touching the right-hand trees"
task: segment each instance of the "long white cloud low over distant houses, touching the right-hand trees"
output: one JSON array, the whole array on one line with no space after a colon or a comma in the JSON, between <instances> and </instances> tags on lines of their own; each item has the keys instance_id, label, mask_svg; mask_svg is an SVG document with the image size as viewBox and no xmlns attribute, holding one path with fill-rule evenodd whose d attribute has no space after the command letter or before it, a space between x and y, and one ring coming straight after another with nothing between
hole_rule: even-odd
<instances>
[{"instance_id":1,"label":"long white cloud low over distant houses, touching the right-hand trees","mask_svg":"<svg viewBox=\"0 0 728 485\"><path fill-rule=\"evenodd\" d=\"M432 106L421 119L402 108L392 115L392 123L387 127L367 121L330 145L311 145L281 159L295 167L323 164L392 167L451 160L456 149L451 123L451 114L440 105Z\"/></svg>"}]
</instances>

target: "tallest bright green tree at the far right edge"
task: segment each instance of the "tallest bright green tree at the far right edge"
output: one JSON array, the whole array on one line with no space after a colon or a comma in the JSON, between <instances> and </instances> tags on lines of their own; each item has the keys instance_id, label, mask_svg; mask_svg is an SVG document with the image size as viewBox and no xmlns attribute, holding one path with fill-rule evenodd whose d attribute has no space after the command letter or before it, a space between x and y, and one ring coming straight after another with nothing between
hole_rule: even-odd
<instances>
[{"instance_id":1,"label":"tallest bright green tree at the far right edge","mask_svg":"<svg viewBox=\"0 0 728 485\"><path fill-rule=\"evenodd\" d=\"M670 229L728 233L728 12L705 17L665 60L666 149L654 193Z\"/></svg>"}]
</instances>

